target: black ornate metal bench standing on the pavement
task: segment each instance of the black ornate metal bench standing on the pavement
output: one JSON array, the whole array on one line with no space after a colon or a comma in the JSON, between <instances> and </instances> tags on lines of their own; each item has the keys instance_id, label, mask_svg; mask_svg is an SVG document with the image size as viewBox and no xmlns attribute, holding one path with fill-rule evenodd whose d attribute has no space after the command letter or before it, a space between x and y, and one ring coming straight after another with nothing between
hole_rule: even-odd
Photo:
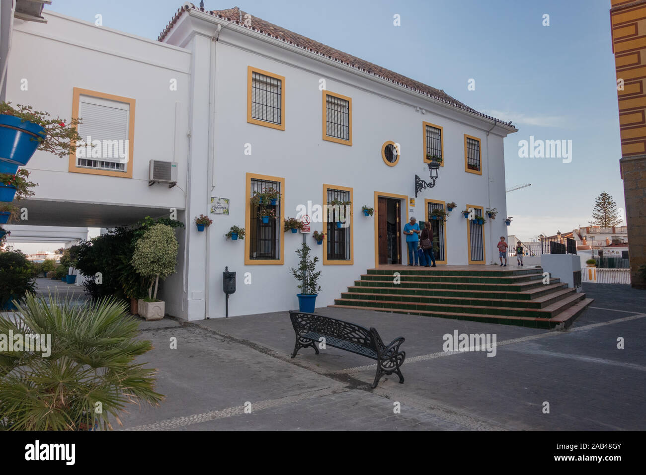
<instances>
[{"instance_id":1,"label":"black ornate metal bench standing on the pavement","mask_svg":"<svg viewBox=\"0 0 646 475\"><path fill-rule=\"evenodd\" d=\"M404 382L401 372L401 365L406 358L406 352L399 351L399 345L404 343L404 337L395 338L390 344L384 344L375 328L370 330L344 322L337 319L317 315L316 313L304 313L301 311L289 311L291 324L296 332L296 344L291 357L295 357L300 348L314 348L317 352L317 343L323 337L326 346L333 346L346 352L355 353L377 360L377 374L372 387L376 388L379 379L383 375L396 373L399 382Z\"/></svg>"}]
</instances>

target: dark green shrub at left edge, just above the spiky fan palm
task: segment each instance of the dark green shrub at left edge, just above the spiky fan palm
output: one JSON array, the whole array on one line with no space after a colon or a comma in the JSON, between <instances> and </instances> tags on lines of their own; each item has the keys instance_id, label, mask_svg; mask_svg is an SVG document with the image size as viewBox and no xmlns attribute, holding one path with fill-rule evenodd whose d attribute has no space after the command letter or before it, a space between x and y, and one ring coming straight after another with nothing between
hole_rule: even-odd
<instances>
[{"instance_id":1,"label":"dark green shrub at left edge, just above the spiky fan palm","mask_svg":"<svg viewBox=\"0 0 646 475\"><path fill-rule=\"evenodd\" d=\"M0 310L10 310L13 308L12 301L20 301L27 292L35 290L36 280L34 280L32 266L26 255L21 251L1 252Z\"/></svg>"}]
</instances>

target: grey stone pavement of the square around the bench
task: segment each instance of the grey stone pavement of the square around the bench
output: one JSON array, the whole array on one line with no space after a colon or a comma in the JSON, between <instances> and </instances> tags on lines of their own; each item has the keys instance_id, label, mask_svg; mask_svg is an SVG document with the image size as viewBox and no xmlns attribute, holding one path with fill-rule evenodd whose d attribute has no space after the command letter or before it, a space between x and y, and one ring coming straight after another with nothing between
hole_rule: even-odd
<instances>
[{"instance_id":1,"label":"grey stone pavement of the square around the bench","mask_svg":"<svg viewBox=\"0 0 646 475\"><path fill-rule=\"evenodd\" d=\"M141 362L158 369L166 399L121 419L124 428L153 430L643 430L646 292L583 285L597 300L567 332L317 309L374 326L386 342L406 337L406 382L393 375L374 390L370 359L331 347L291 359L286 312L142 322L141 335L155 348ZM443 335L454 330L495 333L495 357L444 352Z\"/></svg>"}]
</instances>

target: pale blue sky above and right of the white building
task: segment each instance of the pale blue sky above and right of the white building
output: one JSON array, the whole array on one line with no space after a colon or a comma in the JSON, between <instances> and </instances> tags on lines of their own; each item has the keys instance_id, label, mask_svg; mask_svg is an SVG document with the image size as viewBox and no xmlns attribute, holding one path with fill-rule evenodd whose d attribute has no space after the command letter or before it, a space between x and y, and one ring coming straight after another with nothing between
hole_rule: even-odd
<instances>
[{"instance_id":1,"label":"pale blue sky above and right of the white building","mask_svg":"<svg viewBox=\"0 0 646 475\"><path fill-rule=\"evenodd\" d=\"M510 234L529 240L585 226L602 191L623 208L610 0L238 1L205 8L240 6L512 120L519 132L505 140L506 184L532 186L507 194ZM182 4L54 0L48 9L92 22L101 14L103 26L156 39ZM530 136L572 140L572 162L519 158L518 142Z\"/></svg>"}]
</instances>

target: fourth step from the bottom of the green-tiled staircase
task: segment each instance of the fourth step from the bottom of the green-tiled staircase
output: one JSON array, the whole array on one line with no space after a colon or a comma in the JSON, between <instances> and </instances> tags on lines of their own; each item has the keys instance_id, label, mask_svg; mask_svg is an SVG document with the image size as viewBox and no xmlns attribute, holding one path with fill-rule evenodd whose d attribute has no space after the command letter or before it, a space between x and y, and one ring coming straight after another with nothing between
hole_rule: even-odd
<instances>
[{"instance_id":1,"label":"fourth step from the bottom of the green-tiled staircase","mask_svg":"<svg viewBox=\"0 0 646 475\"><path fill-rule=\"evenodd\" d=\"M475 299L519 299L519 300L532 300L543 295L548 295L557 290L567 288L567 284L558 282L556 284L548 284L541 287L531 288L522 292L503 292L491 290L453 290L453 289L428 289L417 287L402 287L394 285L390 287L377 287L377 286L351 286L348 287L349 292L365 292L365 293L397 293L399 295L436 295L445 297L468 297Z\"/></svg>"}]
</instances>

